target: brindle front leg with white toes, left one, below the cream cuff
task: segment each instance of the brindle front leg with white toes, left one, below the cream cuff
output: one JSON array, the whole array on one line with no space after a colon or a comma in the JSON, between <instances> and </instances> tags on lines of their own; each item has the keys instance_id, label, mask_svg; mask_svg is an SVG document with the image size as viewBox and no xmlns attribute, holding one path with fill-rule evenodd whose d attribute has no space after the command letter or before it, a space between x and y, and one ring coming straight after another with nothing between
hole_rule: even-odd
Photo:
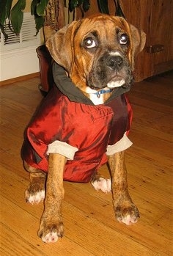
<instances>
[{"instance_id":1,"label":"brindle front leg with white toes, left one, below the cream cuff","mask_svg":"<svg viewBox=\"0 0 173 256\"><path fill-rule=\"evenodd\" d=\"M51 153L48 158L45 208L38 235L45 243L56 242L64 233L62 200L64 198L63 172L66 157Z\"/></svg>"}]
</instances>

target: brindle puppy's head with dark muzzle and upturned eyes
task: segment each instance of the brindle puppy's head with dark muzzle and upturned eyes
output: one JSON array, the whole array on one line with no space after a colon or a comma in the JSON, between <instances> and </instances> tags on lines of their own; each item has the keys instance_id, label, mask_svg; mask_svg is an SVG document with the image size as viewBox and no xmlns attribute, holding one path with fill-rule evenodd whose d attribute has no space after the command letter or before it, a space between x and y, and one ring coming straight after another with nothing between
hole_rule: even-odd
<instances>
[{"instance_id":1,"label":"brindle puppy's head with dark muzzle and upturned eyes","mask_svg":"<svg viewBox=\"0 0 173 256\"><path fill-rule=\"evenodd\" d=\"M124 18L92 15L56 32L46 46L53 59L83 92L87 87L128 87L134 58L145 43L144 32Z\"/></svg>"}]
</instances>

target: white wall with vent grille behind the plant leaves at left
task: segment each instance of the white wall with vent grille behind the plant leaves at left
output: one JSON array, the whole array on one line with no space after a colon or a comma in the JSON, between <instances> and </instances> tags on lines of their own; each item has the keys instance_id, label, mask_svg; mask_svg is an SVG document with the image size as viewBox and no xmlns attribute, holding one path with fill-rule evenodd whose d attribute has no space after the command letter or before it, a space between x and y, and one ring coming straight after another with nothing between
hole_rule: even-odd
<instances>
[{"instance_id":1,"label":"white wall with vent grille behind the plant leaves at left","mask_svg":"<svg viewBox=\"0 0 173 256\"><path fill-rule=\"evenodd\" d=\"M34 17L24 12L20 35L4 25L8 40L1 33L0 40L0 81L39 72L36 48L40 45L40 33L36 34Z\"/></svg>"}]
</instances>

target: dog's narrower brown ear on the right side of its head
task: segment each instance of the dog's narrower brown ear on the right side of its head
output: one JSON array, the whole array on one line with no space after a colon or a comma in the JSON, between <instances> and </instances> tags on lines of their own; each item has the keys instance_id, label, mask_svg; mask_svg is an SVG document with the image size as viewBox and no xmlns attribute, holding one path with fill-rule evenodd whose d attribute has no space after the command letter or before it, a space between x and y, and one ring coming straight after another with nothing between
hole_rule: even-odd
<instances>
[{"instance_id":1,"label":"dog's narrower brown ear on the right side of its head","mask_svg":"<svg viewBox=\"0 0 173 256\"><path fill-rule=\"evenodd\" d=\"M130 27L130 34L131 34L131 41L132 41L132 52L131 52L131 62L132 68L134 68L134 59L139 52L141 52L144 48L145 41L146 41L146 34L137 29L135 26L129 24Z\"/></svg>"}]
</instances>

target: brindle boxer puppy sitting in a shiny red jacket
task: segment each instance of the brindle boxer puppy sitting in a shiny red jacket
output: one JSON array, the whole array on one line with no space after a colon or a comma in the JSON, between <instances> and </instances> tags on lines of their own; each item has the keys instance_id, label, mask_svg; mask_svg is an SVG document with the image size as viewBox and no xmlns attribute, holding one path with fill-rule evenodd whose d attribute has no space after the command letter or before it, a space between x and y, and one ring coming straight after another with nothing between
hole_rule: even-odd
<instances>
[{"instance_id":1,"label":"brindle boxer puppy sitting in a shiny red jacket","mask_svg":"<svg viewBox=\"0 0 173 256\"><path fill-rule=\"evenodd\" d=\"M145 37L124 18L97 14L73 21L46 42L54 59L55 86L26 128L22 147L30 172L26 202L45 200L38 231L45 243L64 233L63 180L90 181L96 190L111 192L119 222L139 219L128 193L124 160L132 144L132 110L125 92ZM105 163L110 179L97 172Z\"/></svg>"}]
</instances>

